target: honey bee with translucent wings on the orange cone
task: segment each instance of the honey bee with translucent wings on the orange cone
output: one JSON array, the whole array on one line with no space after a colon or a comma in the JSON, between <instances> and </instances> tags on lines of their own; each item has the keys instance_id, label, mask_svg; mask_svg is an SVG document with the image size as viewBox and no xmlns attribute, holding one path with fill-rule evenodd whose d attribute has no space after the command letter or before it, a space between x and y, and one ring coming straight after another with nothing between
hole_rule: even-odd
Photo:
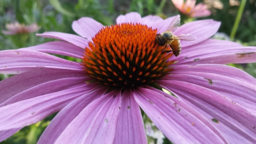
<instances>
[{"instance_id":1,"label":"honey bee with translucent wings on the orange cone","mask_svg":"<svg viewBox=\"0 0 256 144\"><path fill-rule=\"evenodd\" d=\"M173 32L178 29L180 26L180 16L175 17L167 30L160 34L156 34L156 41L159 46L169 45L172 50L166 50L166 48L162 51L162 54L165 52L173 52L173 54L177 57L181 51L180 40L183 41L194 41L197 39L196 36L191 34L181 34L179 36L175 36Z\"/></svg>"}]
</instances>

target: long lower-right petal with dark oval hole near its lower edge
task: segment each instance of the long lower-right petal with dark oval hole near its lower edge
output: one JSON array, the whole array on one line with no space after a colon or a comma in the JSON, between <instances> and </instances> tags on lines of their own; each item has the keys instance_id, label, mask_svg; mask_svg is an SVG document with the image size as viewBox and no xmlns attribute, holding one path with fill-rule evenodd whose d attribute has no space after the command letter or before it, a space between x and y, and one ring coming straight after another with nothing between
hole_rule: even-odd
<instances>
[{"instance_id":1,"label":"long lower-right petal with dark oval hole near its lower edge","mask_svg":"<svg viewBox=\"0 0 256 144\"><path fill-rule=\"evenodd\" d=\"M181 81L161 81L188 105L202 113L230 143L256 142L256 116L229 98L205 87Z\"/></svg>"}]
</instances>

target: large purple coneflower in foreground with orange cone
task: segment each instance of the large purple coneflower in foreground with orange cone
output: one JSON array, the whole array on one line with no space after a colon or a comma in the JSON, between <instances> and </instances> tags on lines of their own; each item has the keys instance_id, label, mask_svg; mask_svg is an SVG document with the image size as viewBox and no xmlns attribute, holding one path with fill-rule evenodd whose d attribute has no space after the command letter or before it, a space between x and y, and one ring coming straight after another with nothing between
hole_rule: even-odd
<instances>
[{"instance_id":1,"label":"large purple coneflower in foreground with orange cone","mask_svg":"<svg viewBox=\"0 0 256 144\"><path fill-rule=\"evenodd\" d=\"M142 109L174 143L255 143L256 81L223 64L255 62L256 47L209 39L220 22L200 20L174 31L197 37L178 57L163 53L155 36L173 18L81 18L82 37L46 32L61 41L1 51L0 73L18 75L0 82L0 140L60 111L38 143L147 143Z\"/></svg>"}]
</instances>

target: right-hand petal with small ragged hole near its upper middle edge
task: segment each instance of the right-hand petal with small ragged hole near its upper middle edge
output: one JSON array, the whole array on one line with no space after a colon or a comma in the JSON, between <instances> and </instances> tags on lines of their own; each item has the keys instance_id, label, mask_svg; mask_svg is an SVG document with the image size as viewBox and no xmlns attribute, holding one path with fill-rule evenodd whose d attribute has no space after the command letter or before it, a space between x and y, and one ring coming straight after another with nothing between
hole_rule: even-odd
<instances>
[{"instance_id":1,"label":"right-hand petal with small ragged hole near its upper middle edge","mask_svg":"<svg viewBox=\"0 0 256 144\"><path fill-rule=\"evenodd\" d=\"M231 99L232 103L238 103L248 111L256 114L256 87L246 82L209 73L194 73L194 75L191 75L191 73L175 74L166 76L165 79L188 82L206 87Z\"/></svg>"}]
</instances>

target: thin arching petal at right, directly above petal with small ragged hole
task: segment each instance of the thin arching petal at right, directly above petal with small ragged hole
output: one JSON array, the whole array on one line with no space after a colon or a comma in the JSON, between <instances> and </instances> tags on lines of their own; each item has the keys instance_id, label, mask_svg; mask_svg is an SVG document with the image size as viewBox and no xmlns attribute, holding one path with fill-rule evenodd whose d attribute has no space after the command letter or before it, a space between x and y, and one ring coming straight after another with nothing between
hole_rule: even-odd
<instances>
[{"instance_id":1,"label":"thin arching petal at right, directly above petal with small ragged hole","mask_svg":"<svg viewBox=\"0 0 256 144\"><path fill-rule=\"evenodd\" d=\"M191 72L202 72L209 74L218 74L222 76L231 77L238 79L239 81L246 82L250 85L256 85L256 79L251 75L245 73L243 70L225 66L225 65L214 65L214 64L204 64L196 66L180 66L175 67L175 70L172 71L172 74L189 74Z\"/></svg>"}]
</instances>

